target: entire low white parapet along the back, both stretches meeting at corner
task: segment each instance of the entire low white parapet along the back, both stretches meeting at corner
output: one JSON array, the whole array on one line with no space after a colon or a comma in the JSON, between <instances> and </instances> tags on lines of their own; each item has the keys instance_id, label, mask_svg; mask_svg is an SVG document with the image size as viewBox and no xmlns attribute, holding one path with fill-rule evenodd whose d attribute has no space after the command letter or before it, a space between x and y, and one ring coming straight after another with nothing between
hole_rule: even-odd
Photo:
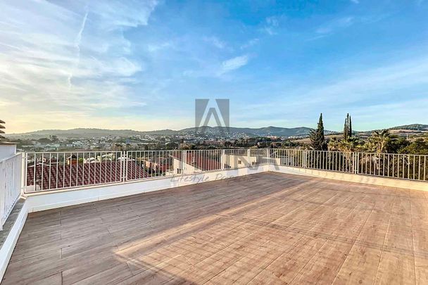
<instances>
[{"instance_id":1,"label":"entire low white parapet along the back, both stretches meeting at corner","mask_svg":"<svg viewBox=\"0 0 428 285\"><path fill-rule=\"evenodd\" d=\"M80 203L89 203L110 198L118 198L121 196L130 196L151 191L170 189L178 186L210 182L218 179L241 177L244 175L251 175L266 171L281 172L291 175L321 177L378 186L389 186L403 189L428 191L427 182L417 182L386 177L374 177L367 175L354 175L351 173L304 169L289 166L258 165L258 167L244 167L235 170L218 170L211 172L194 173L192 175L172 175L168 177L158 177L139 181L123 182L118 184L87 186L84 188L56 191L43 191L39 193L27 194L26 203L28 212L32 213L41 210L61 208L68 205L77 205Z\"/></svg>"}]
</instances>

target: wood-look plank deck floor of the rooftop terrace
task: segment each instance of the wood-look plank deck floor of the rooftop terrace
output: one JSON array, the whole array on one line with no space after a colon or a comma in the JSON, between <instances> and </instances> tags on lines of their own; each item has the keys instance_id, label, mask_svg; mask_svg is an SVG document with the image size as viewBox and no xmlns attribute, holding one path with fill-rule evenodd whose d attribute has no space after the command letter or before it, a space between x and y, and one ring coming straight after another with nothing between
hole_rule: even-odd
<instances>
[{"instance_id":1,"label":"wood-look plank deck floor of the rooftop terrace","mask_svg":"<svg viewBox=\"0 0 428 285\"><path fill-rule=\"evenodd\" d=\"M2 284L428 284L427 192L265 172L33 213Z\"/></svg>"}]
</instances>

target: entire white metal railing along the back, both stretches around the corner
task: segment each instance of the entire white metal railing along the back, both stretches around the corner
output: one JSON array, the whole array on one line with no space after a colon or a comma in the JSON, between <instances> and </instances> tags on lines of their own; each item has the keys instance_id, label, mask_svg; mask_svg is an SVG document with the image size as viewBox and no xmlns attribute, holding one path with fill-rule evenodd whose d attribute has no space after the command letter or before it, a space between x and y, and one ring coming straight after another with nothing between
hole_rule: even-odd
<instances>
[{"instance_id":1,"label":"entire white metal railing along the back, both stretches around the corner","mask_svg":"<svg viewBox=\"0 0 428 285\"><path fill-rule=\"evenodd\" d=\"M25 192L282 165L428 181L428 156L299 149L72 151L25 154Z\"/></svg>"}]
</instances>

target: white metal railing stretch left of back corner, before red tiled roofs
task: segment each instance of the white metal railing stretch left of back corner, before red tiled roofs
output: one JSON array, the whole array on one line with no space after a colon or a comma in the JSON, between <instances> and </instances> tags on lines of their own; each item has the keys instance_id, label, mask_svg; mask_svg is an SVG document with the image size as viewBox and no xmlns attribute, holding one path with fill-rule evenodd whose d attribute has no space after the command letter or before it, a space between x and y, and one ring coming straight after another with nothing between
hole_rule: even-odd
<instances>
[{"instance_id":1,"label":"white metal railing stretch left of back corner, before red tiled roofs","mask_svg":"<svg viewBox=\"0 0 428 285\"><path fill-rule=\"evenodd\" d=\"M25 193L256 167L267 149L25 153Z\"/></svg>"}]
</instances>

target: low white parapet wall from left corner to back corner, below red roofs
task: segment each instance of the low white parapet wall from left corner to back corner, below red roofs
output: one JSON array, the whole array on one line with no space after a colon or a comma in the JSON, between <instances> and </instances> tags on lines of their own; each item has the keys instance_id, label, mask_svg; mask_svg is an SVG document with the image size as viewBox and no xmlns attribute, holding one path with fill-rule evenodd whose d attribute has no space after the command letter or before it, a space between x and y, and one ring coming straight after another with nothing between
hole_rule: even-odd
<instances>
[{"instance_id":1,"label":"low white parapet wall from left corner to back corner, below red roofs","mask_svg":"<svg viewBox=\"0 0 428 285\"><path fill-rule=\"evenodd\" d=\"M192 175L172 175L168 177L158 177L118 184L87 186L76 189L43 191L27 194L26 203L28 212L32 213L41 210L65 207L68 205L101 201L122 196L170 189L178 186L210 182L219 179L241 177L266 171L269 171L269 165L258 165L257 167L240 168L237 170L195 173Z\"/></svg>"}]
</instances>

